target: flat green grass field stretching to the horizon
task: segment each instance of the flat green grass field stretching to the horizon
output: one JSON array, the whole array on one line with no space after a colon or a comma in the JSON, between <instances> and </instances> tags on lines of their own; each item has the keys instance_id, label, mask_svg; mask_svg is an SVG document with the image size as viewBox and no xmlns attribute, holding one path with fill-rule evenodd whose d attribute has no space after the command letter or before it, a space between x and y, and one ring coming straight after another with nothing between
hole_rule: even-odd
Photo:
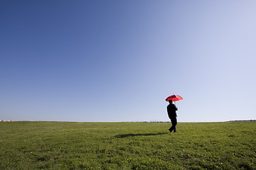
<instances>
[{"instance_id":1,"label":"flat green grass field stretching to the horizon","mask_svg":"<svg viewBox=\"0 0 256 170\"><path fill-rule=\"evenodd\" d=\"M256 169L256 122L0 123L0 169Z\"/></svg>"}]
</instances>

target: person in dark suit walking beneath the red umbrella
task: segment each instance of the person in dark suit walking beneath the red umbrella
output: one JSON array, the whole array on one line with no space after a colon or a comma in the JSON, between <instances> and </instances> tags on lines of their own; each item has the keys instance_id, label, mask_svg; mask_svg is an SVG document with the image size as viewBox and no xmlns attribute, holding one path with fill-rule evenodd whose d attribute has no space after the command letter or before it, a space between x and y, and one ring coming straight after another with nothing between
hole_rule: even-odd
<instances>
[{"instance_id":1,"label":"person in dark suit walking beneath the red umbrella","mask_svg":"<svg viewBox=\"0 0 256 170\"><path fill-rule=\"evenodd\" d=\"M169 128L169 131L177 132L176 125L177 125L177 114L176 111L178 111L178 108L172 103L171 100L169 100L169 105L167 106L167 113L169 118L171 119L171 128Z\"/></svg>"}]
</instances>

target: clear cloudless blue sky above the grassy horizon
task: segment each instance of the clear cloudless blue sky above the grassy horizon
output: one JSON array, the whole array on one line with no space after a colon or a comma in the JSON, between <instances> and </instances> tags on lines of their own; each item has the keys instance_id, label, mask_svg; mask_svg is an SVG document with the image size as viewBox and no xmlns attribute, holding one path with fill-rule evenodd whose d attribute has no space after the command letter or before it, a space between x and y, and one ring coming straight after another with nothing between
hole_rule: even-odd
<instances>
[{"instance_id":1,"label":"clear cloudless blue sky above the grassy horizon","mask_svg":"<svg viewBox=\"0 0 256 170\"><path fill-rule=\"evenodd\" d=\"M256 1L0 1L0 119L256 119Z\"/></svg>"}]
</instances>

